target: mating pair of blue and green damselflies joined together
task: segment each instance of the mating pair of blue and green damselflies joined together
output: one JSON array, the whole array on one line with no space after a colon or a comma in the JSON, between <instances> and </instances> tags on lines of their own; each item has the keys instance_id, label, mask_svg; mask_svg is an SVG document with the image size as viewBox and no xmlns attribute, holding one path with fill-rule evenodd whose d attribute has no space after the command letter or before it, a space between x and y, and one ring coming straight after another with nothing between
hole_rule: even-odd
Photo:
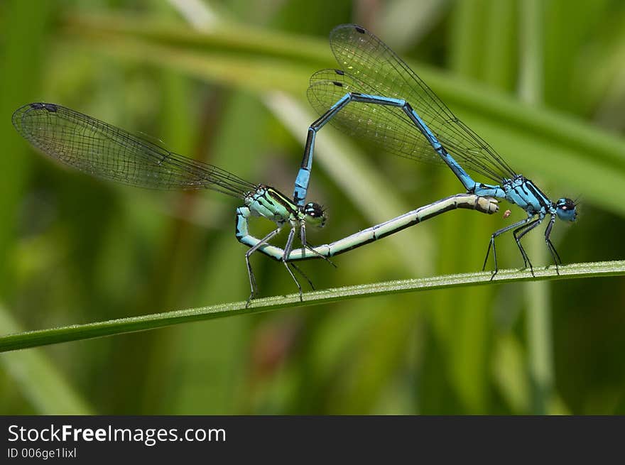
<instances>
[{"instance_id":1,"label":"mating pair of blue and green damselflies joined together","mask_svg":"<svg viewBox=\"0 0 625 465\"><path fill-rule=\"evenodd\" d=\"M256 251L283 263L298 286L301 299L302 288L293 271L305 275L293 262L311 258L330 261L330 257L339 253L452 209L475 209L491 214L498 209L497 199L516 204L527 217L491 235L482 269L486 268L492 249L491 278L496 275L495 238L513 230L523 264L533 274L520 240L549 217L545 243L558 270L560 256L550 234L556 217L575 221L575 202L568 198L552 202L533 182L512 170L487 142L441 102L406 62L365 28L353 24L337 26L330 33L330 47L341 68L312 75L308 99L321 116L308 128L292 198L273 187L254 184L214 165L178 155L143 136L58 104L22 106L13 114L13 125L43 153L96 177L156 189L211 189L243 200L244 205L237 209L236 236L249 247L245 254L251 288L249 300L257 295L249 261ZM320 227L326 221L322 207L307 202L307 193L315 137L328 122L388 153L444 163L462 182L466 193L433 202L332 244L310 246L306 226ZM473 180L467 170L494 184ZM256 238L249 232L250 217L270 219L276 229L261 239ZM290 231L284 248L271 245L271 239L286 225ZM296 239L300 247L295 247Z\"/></svg>"}]
</instances>

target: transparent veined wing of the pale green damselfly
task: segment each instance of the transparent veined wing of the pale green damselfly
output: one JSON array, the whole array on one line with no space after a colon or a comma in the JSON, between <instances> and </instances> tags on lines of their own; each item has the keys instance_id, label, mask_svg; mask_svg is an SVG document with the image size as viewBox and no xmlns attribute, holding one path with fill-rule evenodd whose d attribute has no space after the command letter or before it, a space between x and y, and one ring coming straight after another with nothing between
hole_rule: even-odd
<instances>
[{"instance_id":1,"label":"transparent veined wing of the pale green damselfly","mask_svg":"<svg viewBox=\"0 0 625 465\"><path fill-rule=\"evenodd\" d=\"M21 106L13 126L51 158L106 180L151 189L212 189L239 198L256 189L226 170L57 104Z\"/></svg>"}]
</instances>

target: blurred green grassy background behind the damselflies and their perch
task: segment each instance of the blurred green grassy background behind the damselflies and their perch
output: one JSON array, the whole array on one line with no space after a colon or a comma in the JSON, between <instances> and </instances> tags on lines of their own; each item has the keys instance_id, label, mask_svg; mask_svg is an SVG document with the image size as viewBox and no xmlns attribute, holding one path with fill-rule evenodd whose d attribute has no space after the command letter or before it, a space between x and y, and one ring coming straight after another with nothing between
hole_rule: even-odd
<instances>
[{"instance_id":1,"label":"blurred green grassy background behind the damselflies and their perch","mask_svg":"<svg viewBox=\"0 0 625 465\"><path fill-rule=\"evenodd\" d=\"M2 334L243 300L236 201L100 182L11 126L55 102L292 192L308 77L357 22L545 192L565 263L625 256L625 4L620 0L0 3ZM310 199L323 244L460 192L445 169L325 128ZM502 212L507 206L502 205ZM478 270L510 219L452 212L303 263L317 288ZM271 229L255 221L257 235ZM526 236L549 263L542 232ZM281 236L276 244L283 244ZM521 266L509 235L500 266ZM256 256L261 295L295 292ZM0 355L3 414L624 414L622 278L417 292L183 324Z\"/></svg>"}]
</instances>

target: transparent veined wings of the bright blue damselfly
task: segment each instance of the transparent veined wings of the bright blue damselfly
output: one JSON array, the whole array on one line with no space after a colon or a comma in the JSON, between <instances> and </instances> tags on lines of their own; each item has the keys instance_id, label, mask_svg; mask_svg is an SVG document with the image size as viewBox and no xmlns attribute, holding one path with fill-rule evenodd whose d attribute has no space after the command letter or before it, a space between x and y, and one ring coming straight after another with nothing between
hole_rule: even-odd
<instances>
[{"instance_id":1,"label":"transparent veined wings of the bright blue damselfly","mask_svg":"<svg viewBox=\"0 0 625 465\"><path fill-rule=\"evenodd\" d=\"M317 112L325 113L336 102L331 102L332 98L347 92L403 99L465 169L495 182L514 175L501 156L462 123L406 62L375 35L354 24L337 26L330 33L330 48L341 70L322 70L312 76L308 99ZM330 122L389 153L442 162L397 107L350 103Z\"/></svg>"}]
</instances>

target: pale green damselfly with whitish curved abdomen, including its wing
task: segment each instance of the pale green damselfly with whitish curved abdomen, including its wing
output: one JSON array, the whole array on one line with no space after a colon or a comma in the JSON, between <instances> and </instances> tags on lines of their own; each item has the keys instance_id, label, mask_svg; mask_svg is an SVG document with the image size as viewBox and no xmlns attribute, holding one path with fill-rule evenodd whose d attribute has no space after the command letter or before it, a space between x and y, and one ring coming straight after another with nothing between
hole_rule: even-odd
<instances>
[{"instance_id":1,"label":"pale green damselfly with whitish curved abdomen, including its wing","mask_svg":"<svg viewBox=\"0 0 625 465\"><path fill-rule=\"evenodd\" d=\"M488 214L498 209L494 198L456 195L332 244L311 247L306 241L306 226L321 227L326 221L320 204L295 204L273 187L251 183L222 168L178 155L143 136L58 104L24 105L13 113L13 126L43 153L89 175L152 189L211 189L241 199L244 205L237 209L236 236L242 244L249 246L245 254L251 289L248 304L257 295L256 279L249 261L255 251L284 264L298 286L301 299L302 288L293 270L306 277L293 261L327 259L452 209L474 209ZM276 229L257 239L249 234L250 217L270 219L276 224ZM282 249L269 244L286 224L290 226L286 246ZM294 249L293 241L298 233L302 248ZM310 285L312 287L312 283Z\"/></svg>"}]
</instances>

